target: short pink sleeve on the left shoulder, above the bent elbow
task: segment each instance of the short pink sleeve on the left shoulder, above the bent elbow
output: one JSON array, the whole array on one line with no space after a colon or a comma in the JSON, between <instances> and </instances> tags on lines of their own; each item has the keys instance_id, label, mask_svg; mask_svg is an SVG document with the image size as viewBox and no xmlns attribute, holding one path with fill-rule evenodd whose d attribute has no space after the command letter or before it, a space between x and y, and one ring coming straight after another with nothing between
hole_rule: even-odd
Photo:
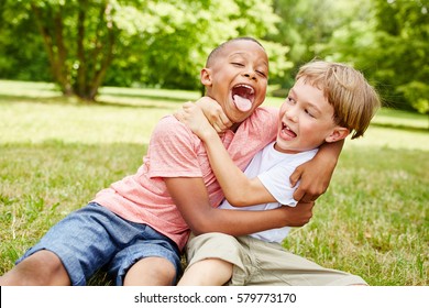
<instances>
[{"instance_id":1,"label":"short pink sleeve on the left shoulder, above the bent elbow","mask_svg":"<svg viewBox=\"0 0 429 308\"><path fill-rule=\"evenodd\" d=\"M163 118L151 138L146 160L150 177L201 177L198 138L173 116Z\"/></svg>"}]
</instances>

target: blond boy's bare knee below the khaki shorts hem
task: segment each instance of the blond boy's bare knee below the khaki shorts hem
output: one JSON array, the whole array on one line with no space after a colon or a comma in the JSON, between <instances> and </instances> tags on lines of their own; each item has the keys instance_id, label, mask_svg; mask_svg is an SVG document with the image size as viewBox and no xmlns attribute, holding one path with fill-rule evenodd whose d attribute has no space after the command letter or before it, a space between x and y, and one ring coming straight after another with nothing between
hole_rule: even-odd
<instances>
[{"instance_id":1,"label":"blond boy's bare knee below the khaki shorts hem","mask_svg":"<svg viewBox=\"0 0 429 308\"><path fill-rule=\"evenodd\" d=\"M220 258L205 258L189 266L178 286L222 286L232 276L232 264Z\"/></svg>"}]
</instances>

